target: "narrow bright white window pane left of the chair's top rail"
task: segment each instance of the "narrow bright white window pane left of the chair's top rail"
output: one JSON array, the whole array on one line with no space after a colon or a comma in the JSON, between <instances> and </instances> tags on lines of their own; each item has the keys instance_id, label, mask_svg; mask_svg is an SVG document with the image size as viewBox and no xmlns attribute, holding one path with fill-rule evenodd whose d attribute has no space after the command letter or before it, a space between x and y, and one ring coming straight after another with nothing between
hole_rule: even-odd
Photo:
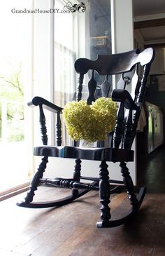
<instances>
[{"instance_id":1,"label":"narrow bright white window pane left of the chair's top rail","mask_svg":"<svg viewBox=\"0 0 165 256\"><path fill-rule=\"evenodd\" d=\"M73 27L76 15L62 13L66 3L55 1L55 103L64 107L72 100L75 91L73 81L73 64L75 61L75 30Z\"/></svg>"}]
</instances>

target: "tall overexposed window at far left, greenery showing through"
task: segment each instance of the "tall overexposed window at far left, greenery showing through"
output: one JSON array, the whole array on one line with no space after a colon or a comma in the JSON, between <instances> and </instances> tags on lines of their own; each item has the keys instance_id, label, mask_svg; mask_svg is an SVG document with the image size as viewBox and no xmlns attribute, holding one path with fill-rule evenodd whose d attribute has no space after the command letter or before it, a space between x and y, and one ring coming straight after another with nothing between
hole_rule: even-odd
<instances>
[{"instance_id":1,"label":"tall overexposed window at far left, greenery showing through","mask_svg":"<svg viewBox=\"0 0 165 256\"><path fill-rule=\"evenodd\" d=\"M24 106L32 85L32 16L15 13L24 8L31 9L32 1L0 4L0 192L17 186L20 189L31 173L29 117Z\"/></svg>"}]
</instances>

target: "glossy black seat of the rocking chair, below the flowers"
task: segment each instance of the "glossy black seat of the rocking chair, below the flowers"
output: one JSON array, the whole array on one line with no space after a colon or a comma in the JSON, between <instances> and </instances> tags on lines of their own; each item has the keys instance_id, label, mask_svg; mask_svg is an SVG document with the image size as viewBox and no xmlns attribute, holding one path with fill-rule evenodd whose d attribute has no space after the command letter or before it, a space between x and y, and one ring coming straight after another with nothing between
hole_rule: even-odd
<instances>
[{"instance_id":1,"label":"glossy black seat of the rocking chair, below the flowers","mask_svg":"<svg viewBox=\"0 0 165 256\"><path fill-rule=\"evenodd\" d=\"M34 156L52 156L69 159L86 159L112 162L134 161L134 150L115 149L111 147L80 148L80 147L34 147Z\"/></svg>"}]
</instances>

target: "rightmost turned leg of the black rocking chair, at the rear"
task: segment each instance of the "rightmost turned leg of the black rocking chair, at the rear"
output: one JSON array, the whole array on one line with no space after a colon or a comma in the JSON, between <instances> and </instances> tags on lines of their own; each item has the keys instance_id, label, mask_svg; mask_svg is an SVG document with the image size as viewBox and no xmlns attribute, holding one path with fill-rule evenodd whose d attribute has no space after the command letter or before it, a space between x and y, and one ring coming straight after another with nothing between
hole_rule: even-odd
<instances>
[{"instance_id":1,"label":"rightmost turned leg of the black rocking chair, at the rear","mask_svg":"<svg viewBox=\"0 0 165 256\"><path fill-rule=\"evenodd\" d=\"M136 195L134 194L134 183L129 175L129 169L127 168L127 163L120 163L121 173L123 177L123 182L125 187L127 188L127 194L129 194L129 199L131 201L132 206L136 206L138 204L138 200Z\"/></svg>"}]
</instances>

